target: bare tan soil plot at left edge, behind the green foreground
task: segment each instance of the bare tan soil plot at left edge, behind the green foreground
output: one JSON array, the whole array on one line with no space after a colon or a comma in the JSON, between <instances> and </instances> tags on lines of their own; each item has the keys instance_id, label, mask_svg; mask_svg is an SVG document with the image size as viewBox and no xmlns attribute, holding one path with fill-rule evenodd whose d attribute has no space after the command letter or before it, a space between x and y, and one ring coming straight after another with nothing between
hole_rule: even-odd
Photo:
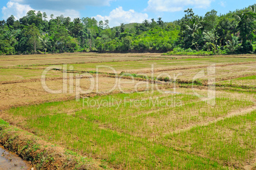
<instances>
[{"instance_id":1,"label":"bare tan soil plot at left edge, behind the green foreground","mask_svg":"<svg viewBox=\"0 0 256 170\"><path fill-rule=\"evenodd\" d=\"M23 81L12 81L9 83L0 84L0 110L5 110L11 107L17 107L22 105L38 104L52 101L66 101L70 99L75 99L76 90L80 87L83 92L90 93L108 93L113 87L115 87L116 79L99 76L98 89L96 88L96 78L91 81L89 78L81 78L80 86L76 86L76 81L73 80L73 92L69 89L71 84L67 80L68 84L63 83L62 78L48 78L46 79L46 85L48 89L51 90L63 90L64 85L67 88L67 92L62 92L60 94L50 94L43 89L41 84L41 79L23 80ZM115 92L132 92L134 85L139 83L139 81L129 81L127 83L120 82L120 88L115 87L113 91ZM92 90L91 87L93 88ZM141 82L138 85L138 89L146 88L145 82ZM89 91L88 91L89 90ZM81 92L81 95L83 95ZM82 96L81 96L82 97Z\"/></svg>"}]
</instances>

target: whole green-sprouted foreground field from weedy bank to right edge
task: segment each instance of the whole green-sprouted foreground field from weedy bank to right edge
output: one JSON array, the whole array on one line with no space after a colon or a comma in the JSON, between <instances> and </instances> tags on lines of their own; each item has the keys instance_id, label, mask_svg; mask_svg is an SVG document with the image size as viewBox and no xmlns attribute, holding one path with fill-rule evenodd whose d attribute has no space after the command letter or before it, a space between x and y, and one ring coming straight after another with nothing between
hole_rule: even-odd
<instances>
[{"instance_id":1,"label":"whole green-sprouted foreground field from weedy bank to right edge","mask_svg":"<svg viewBox=\"0 0 256 170\"><path fill-rule=\"evenodd\" d=\"M186 92L187 89L180 89L180 91ZM224 139L231 138L231 134L226 133L229 129L225 129L229 125L221 127L223 132L211 134L213 138L204 139L200 136L201 140L204 139L205 144L212 143L211 146L218 150L220 154L215 154L214 157L211 157L210 154L207 157L201 157L201 154L198 155L196 151L188 152L187 138L179 138L179 134L190 135L189 132L195 128L205 129L209 126L209 129L212 130L211 127L216 127L220 124L219 122L229 121L229 118L225 118L229 117L230 114L234 114L234 112L238 111L234 115L239 115L239 111L255 109L253 101L246 100L248 99L247 96L252 94L236 94L239 97L232 98L232 93L234 92L227 92L229 97L224 97L220 92L217 92L219 97L217 97L216 106L213 107L208 106L193 96L192 93L189 93L176 95L159 94L158 92L153 94L150 92L145 94L115 94L111 97L117 100L115 102L123 100L120 105L117 103L108 106L94 105L95 101L106 100L111 102L110 96L102 96L92 97L88 101L86 99L85 101L80 101L80 103L62 101L14 108L8 111L8 115L11 115L11 119L20 124L21 127L30 129L30 131L45 140L54 141L54 143L69 149L72 148L82 155L108 160L116 168L131 167L136 169L146 167L147 169L168 169L174 167L185 168L187 166L196 168L198 166L201 169L222 169L225 166L234 165L242 168L246 166L246 162L252 162L256 135L253 132L253 129L255 130L254 120L247 122L247 126L251 128L247 129L247 132L244 132L245 129L240 131L237 128L236 130L238 131L237 133L243 135L239 136L238 134L238 138L241 137L242 143L236 141L236 147L240 147L240 149L229 151L231 152L229 154L234 154L232 155L234 158L241 157L239 160L234 160L234 158L227 156L222 157L221 155L221 152L224 152L226 150L225 147L231 142ZM152 106L152 101L155 101L156 97L159 97L160 101L169 102L175 98L177 103L183 104L175 106L172 103L156 103ZM125 99L127 99L126 103L124 103ZM145 101L145 106L136 105L138 101L143 101L143 103ZM253 118L253 115L249 117ZM218 121L220 118L223 120ZM238 122L236 122L238 124L241 121L241 117L232 119L236 120L236 118L238 119ZM215 122L215 120L217 121ZM244 121L246 121L246 118ZM210 124L200 126L207 122L210 122ZM232 126L235 125L231 125L229 128L232 129ZM188 129L189 131L183 132L183 129ZM250 130L252 131L250 132ZM194 137L195 145L199 145L197 143L202 142L197 141L196 134L191 135L193 136L190 138ZM207 134L205 135L207 136ZM183 139L184 144L178 143L178 139L175 140L172 136L179 140ZM236 137L232 140L235 139ZM172 141L169 142L169 140ZM193 139L191 140L193 141ZM178 146L180 146L180 150L177 152L175 148ZM208 150L213 150L210 146L204 147L208 148ZM245 148L245 152L240 153L239 151L242 148ZM208 150L204 150L204 148L199 149L201 149L200 152L208 153ZM228 153L223 154L228 155ZM175 161L171 162L171 160Z\"/></svg>"}]
</instances>

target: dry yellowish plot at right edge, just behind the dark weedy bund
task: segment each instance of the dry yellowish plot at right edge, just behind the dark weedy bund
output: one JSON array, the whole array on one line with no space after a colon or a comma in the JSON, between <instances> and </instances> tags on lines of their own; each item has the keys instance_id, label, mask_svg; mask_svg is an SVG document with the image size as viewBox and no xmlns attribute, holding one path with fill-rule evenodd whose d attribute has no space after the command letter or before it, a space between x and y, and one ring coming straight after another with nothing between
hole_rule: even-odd
<instances>
[{"instance_id":1,"label":"dry yellowish plot at right edge, just behind the dark weedy bund","mask_svg":"<svg viewBox=\"0 0 256 170\"><path fill-rule=\"evenodd\" d=\"M181 69L175 69L171 71L155 71L153 73L156 78L170 78L173 79L176 75L176 79L180 81L190 81L193 80L207 82L208 78L212 77L212 74L208 74L208 68L211 67L199 67L199 68L191 68L185 67ZM203 71L204 76L197 78L198 73ZM256 75L256 63L253 64L232 64L231 66L222 66L221 64L216 64L215 68L215 80L222 81L222 83L238 83L240 85L251 85L253 86L255 83L255 75ZM140 73L137 73L138 75ZM144 75L144 74L141 74ZM146 76L152 76L152 73L146 73ZM229 81L231 80L231 81ZM232 81L234 80L234 81Z\"/></svg>"}]
</instances>

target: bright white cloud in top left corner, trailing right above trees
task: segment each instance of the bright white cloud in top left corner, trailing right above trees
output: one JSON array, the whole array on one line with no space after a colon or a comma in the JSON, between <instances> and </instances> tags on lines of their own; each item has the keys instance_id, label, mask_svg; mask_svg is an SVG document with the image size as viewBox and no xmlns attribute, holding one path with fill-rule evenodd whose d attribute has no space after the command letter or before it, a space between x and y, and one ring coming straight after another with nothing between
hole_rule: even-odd
<instances>
[{"instance_id":1,"label":"bright white cloud in top left corner, trailing right above trees","mask_svg":"<svg viewBox=\"0 0 256 170\"><path fill-rule=\"evenodd\" d=\"M15 0L15 1L22 1L22 0ZM20 3L14 3L12 1L8 2L6 6L2 8L3 18L7 19L11 15L15 17L15 19L19 19L24 17L28 11L34 10L31 8L31 6L27 4L20 4ZM39 11L41 9L36 10ZM79 11L76 10L62 10L62 11L56 11L56 10L41 10L41 12L46 12L48 15L48 19L50 19L50 15L53 14L54 17L64 15L64 17L70 17L71 20L74 18L80 17Z\"/></svg>"}]
</instances>

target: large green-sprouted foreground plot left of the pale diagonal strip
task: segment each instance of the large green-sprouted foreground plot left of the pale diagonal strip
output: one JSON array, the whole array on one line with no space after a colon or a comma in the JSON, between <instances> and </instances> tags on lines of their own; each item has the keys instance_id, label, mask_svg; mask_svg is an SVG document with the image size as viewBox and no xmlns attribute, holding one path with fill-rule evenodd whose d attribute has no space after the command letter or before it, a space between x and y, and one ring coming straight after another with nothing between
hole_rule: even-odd
<instances>
[{"instance_id":1,"label":"large green-sprouted foreground plot left of the pale diagonal strip","mask_svg":"<svg viewBox=\"0 0 256 170\"><path fill-rule=\"evenodd\" d=\"M13 108L8 113L20 125L42 138L66 148L97 157L113 167L127 169L223 169L225 164L197 153L176 151L173 143L159 143L157 139L186 125L217 117L230 111L252 106L250 101L229 98L217 99L215 107L209 107L195 96L174 95L182 106L135 107L136 99L148 102L148 97L171 99L172 95L116 94L115 100L129 97L131 105L115 107L88 106L83 101L45 103L37 106ZM94 97L89 101L108 100L110 96ZM155 98L154 98L155 99ZM115 102L117 102L115 101ZM123 101L124 102L124 101ZM203 108L200 110L200 108ZM200 110L198 112L198 110ZM152 126L149 120L156 120ZM166 133L167 132L167 133ZM155 135L155 136L154 136ZM153 136L153 138L152 138ZM157 138L156 138L157 137ZM218 140L218 139L217 139Z\"/></svg>"}]
</instances>

